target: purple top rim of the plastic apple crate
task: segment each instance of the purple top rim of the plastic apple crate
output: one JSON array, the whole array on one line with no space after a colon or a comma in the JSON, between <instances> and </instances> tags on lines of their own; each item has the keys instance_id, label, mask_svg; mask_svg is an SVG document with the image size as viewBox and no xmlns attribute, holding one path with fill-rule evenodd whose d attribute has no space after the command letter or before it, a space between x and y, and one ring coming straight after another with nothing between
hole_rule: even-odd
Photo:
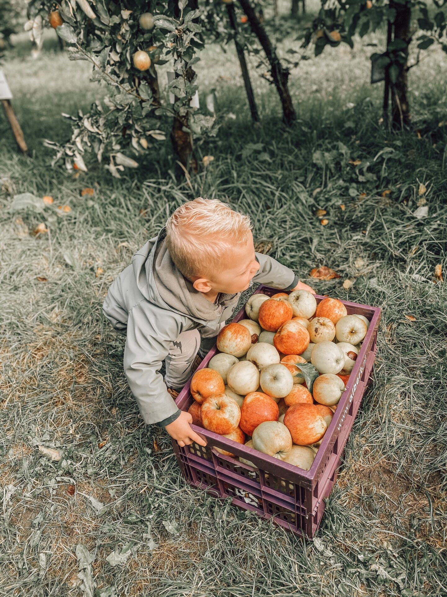
<instances>
[{"instance_id":1,"label":"purple top rim of the plastic apple crate","mask_svg":"<svg viewBox=\"0 0 447 597\"><path fill-rule=\"evenodd\" d=\"M263 290L280 291L281 289L273 288L268 285L261 284L261 285L259 285L259 287L256 288L256 290L250 296L253 296L254 294L262 294ZM315 294L315 298L319 299L319 301L321 301L324 298L328 298L328 295ZM247 300L249 300L249 299L247 298ZM289 463L285 462L284 460L280 460L279 458L274 458L273 456L269 456L268 454L262 453L262 460L272 464L272 466L274 466L274 467L278 467L278 469L282 469L284 471L284 474L287 474L289 476L291 475L295 478L296 478L296 475L299 475L302 478L302 480L306 480L309 483L309 487L312 487L313 483L316 481L315 472L316 472L316 470L318 470L318 467L320 466L321 461L324 458L324 454L325 454L324 448L327 446L328 442L332 438L333 430L340 423L340 419L342 418L343 412L346 409L345 403L347 402L347 399L349 398L350 391L352 390L353 385L355 383L354 380L355 380L356 376L358 376L359 370L361 369L361 363L365 359L365 355L367 353L367 346L368 346L368 344L370 344L370 340L373 337L374 332L377 331L378 324L379 324L380 318L381 318L380 307L373 307L373 306L365 305L365 304L361 304L361 303L352 303L350 301L344 301L342 299L339 299L339 300L341 300L342 303L344 304L344 306L346 306L346 307L350 307L350 308L361 307L361 309L366 309L366 310L373 312L373 316L371 317L371 321L370 321L370 326L368 328L367 335L365 336L365 339L368 338L368 341L366 343L364 341L362 344L362 347L359 351L358 358L356 359L356 363L350 373L349 380L347 381L346 387L345 387L342 397L340 398L340 401L339 401L340 407L342 406L342 401L343 401L343 408L337 408L336 412L334 413L331 423L322 439L320 449L317 451L316 456L313 460L312 466L309 470L300 469L299 467L294 466L294 464L289 464ZM240 317L240 315L243 315L244 312L245 312L245 305L238 311L238 313L234 316L234 318L231 321L234 321L237 318L242 319L243 317ZM199 369L205 368L207 366L208 362L210 361L210 359L212 358L212 356L214 356L216 353L217 353L217 347L215 345L207 353L207 355L205 356L203 361L197 367L197 371ZM365 367L366 367L366 365L365 365ZM178 397L175 399L175 403L179 408L181 408L181 405L183 404L185 399L190 394L190 385L191 385L191 378L190 378L190 380L188 380L188 382L185 384L182 391L179 393ZM254 448L247 447L244 444L238 444L237 442L234 442L231 439L225 438L225 436L223 436L223 435L219 435L218 433L214 433L212 431L204 429L204 427L199 427L197 425L194 425L193 423L191 423L191 429L193 429L195 431L195 433L197 433L197 435L201 436L202 439L205 439L205 441L207 441L207 443L208 443L208 440L212 440L213 443L217 444L219 448L222 448L228 452L237 454L237 452L240 451L241 456L243 456L243 457L249 457L251 455L256 458L259 458L259 456L257 456L257 454L259 454L259 451L254 450ZM241 446L243 447L243 450L241 449ZM213 445L210 446L210 449L213 449ZM219 457L225 458L224 454L221 454L221 453L218 453L218 454L219 454ZM249 459L250 458L247 458L247 460L249 460ZM231 458L231 460L234 460L234 459ZM254 470L253 467L247 466L246 464L243 464L243 463L239 463L239 464L240 464L240 466L246 467L248 470Z\"/></svg>"}]
</instances>

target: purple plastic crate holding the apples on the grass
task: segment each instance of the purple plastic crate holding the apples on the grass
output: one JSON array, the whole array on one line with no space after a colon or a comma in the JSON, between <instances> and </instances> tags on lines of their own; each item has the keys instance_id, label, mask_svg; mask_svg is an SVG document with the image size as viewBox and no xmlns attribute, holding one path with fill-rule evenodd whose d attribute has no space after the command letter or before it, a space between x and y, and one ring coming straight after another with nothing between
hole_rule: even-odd
<instances>
[{"instance_id":1,"label":"purple plastic crate holding the apples on the grass","mask_svg":"<svg viewBox=\"0 0 447 597\"><path fill-rule=\"evenodd\" d=\"M272 296L278 290L261 285L254 294L258 293ZM315 298L319 303L325 297ZM324 500L336 482L347 437L371 380L377 347L381 310L342 302L348 315L365 315L370 320L370 327L310 470L300 469L196 425L191 427L206 439L206 447L193 443L181 448L177 442L172 442L182 475L191 485L207 490L213 496L231 497L235 506L252 510L262 518L273 518L276 524L287 530L310 538L318 530L325 508ZM246 312L243 307L232 321L244 318ZM198 368L207 367L217 352L214 346ZM187 411L193 401L188 381L175 402L181 410ZM213 447L247 458L256 464L257 469L234 457L224 456Z\"/></svg>"}]
</instances>

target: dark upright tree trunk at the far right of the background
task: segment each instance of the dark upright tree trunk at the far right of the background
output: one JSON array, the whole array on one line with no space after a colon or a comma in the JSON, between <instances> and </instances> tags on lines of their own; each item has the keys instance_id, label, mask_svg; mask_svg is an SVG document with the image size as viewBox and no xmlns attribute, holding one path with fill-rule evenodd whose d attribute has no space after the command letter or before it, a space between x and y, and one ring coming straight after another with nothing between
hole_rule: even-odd
<instances>
[{"instance_id":1,"label":"dark upright tree trunk at the far right of the background","mask_svg":"<svg viewBox=\"0 0 447 597\"><path fill-rule=\"evenodd\" d=\"M409 1L405 4L399 4L395 0L390 0L390 8L396 10L394 39L402 39L406 44L406 47L401 50L405 60L401 65L396 82L391 84L392 126L393 128L402 129L408 127L410 122L408 105L408 50L411 42L411 4Z\"/></svg>"}]
</instances>

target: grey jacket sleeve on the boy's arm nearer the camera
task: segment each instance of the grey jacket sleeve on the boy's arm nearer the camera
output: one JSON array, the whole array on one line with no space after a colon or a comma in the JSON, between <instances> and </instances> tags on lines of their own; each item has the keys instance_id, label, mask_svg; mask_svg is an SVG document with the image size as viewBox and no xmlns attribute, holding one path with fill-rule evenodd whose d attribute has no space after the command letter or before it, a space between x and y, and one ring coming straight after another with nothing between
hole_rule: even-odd
<instances>
[{"instance_id":1,"label":"grey jacket sleeve on the boy's arm nearer the camera","mask_svg":"<svg viewBox=\"0 0 447 597\"><path fill-rule=\"evenodd\" d=\"M129 311L124 370L146 424L164 427L181 411L167 392L160 374L169 344L182 330L182 322L147 301L141 301Z\"/></svg>"}]
</instances>

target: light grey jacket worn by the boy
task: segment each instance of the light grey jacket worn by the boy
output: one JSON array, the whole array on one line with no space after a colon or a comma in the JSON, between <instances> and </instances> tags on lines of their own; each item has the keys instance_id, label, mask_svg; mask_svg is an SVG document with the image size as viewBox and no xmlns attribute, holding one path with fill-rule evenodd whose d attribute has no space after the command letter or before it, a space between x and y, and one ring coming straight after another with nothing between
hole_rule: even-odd
<instances>
[{"instance_id":1,"label":"light grey jacket worn by the boy","mask_svg":"<svg viewBox=\"0 0 447 597\"><path fill-rule=\"evenodd\" d=\"M160 427L180 414L159 373L170 342L183 331L201 326L216 330L231 317L239 298L239 294L223 295L213 304L195 291L170 259L165 235L163 228L134 255L103 304L108 321L126 334L124 370L141 416L145 423ZM278 261L261 253L256 253L256 259L260 269L253 282L285 290L298 283L293 271Z\"/></svg>"}]
</instances>

